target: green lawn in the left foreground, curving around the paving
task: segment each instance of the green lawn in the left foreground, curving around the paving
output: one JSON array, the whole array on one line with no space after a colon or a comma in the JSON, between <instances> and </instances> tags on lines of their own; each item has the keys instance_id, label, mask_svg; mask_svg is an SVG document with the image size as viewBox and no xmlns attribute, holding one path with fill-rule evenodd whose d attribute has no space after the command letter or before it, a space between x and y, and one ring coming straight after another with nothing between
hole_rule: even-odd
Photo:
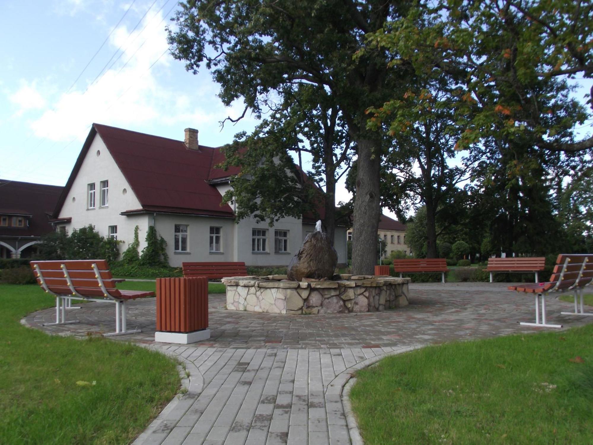
<instances>
[{"instance_id":1,"label":"green lawn in the left foreground, curving around the paving","mask_svg":"<svg viewBox=\"0 0 593 445\"><path fill-rule=\"evenodd\" d=\"M176 364L131 344L19 323L53 304L38 285L0 284L0 443L129 443L177 392Z\"/></svg>"}]
</instances>

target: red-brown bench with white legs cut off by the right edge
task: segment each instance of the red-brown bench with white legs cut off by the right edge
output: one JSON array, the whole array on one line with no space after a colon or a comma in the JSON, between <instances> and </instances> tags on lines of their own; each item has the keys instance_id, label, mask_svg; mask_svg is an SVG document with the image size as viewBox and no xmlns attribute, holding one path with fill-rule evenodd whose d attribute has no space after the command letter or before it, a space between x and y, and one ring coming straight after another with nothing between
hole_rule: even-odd
<instances>
[{"instance_id":1,"label":"red-brown bench with white legs cut off by the right edge","mask_svg":"<svg viewBox=\"0 0 593 445\"><path fill-rule=\"evenodd\" d=\"M562 328L562 325L549 325L546 323L546 300L545 295L549 293L565 294L573 292L575 295L575 311L561 312L565 315L585 315L583 307L583 292L585 286L593 281L593 254L582 255L559 255L556 259L556 266L550 276L550 281L545 283L519 284L509 286L509 290L535 294L535 323L524 323L526 326L544 326L546 328ZM581 299L580 307L577 303ZM541 322L540 322L540 301L541 301ZM580 310L579 310L580 309Z\"/></svg>"}]
</instances>

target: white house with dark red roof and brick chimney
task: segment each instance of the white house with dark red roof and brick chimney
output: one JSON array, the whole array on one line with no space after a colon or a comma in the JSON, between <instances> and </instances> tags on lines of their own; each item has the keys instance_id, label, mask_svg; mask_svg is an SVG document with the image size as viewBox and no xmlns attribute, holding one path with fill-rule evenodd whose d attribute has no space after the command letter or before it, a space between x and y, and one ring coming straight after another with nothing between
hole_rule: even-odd
<instances>
[{"instance_id":1,"label":"white house with dark red roof and brick chimney","mask_svg":"<svg viewBox=\"0 0 593 445\"><path fill-rule=\"evenodd\" d=\"M58 230L93 224L103 236L133 241L140 249L154 226L167 241L171 266L184 261L243 261L250 266L286 266L314 221L282 218L274 227L251 218L234 222L222 204L230 179L220 148L198 143L188 128L184 141L93 124L60 195L53 218ZM346 263L346 228L337 227L334 247Z\"/></svg>"}]
</instances>

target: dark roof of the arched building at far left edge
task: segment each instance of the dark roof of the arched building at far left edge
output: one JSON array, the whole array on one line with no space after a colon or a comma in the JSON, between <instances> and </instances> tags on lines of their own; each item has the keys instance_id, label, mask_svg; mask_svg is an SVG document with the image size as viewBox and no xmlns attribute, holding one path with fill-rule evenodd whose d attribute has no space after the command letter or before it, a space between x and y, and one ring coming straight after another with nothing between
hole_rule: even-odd
<instances>
[{"instance_id":1,"label":"dark roof of the arched building at far left edge","mask_svg":"<svg viewBox=\"0 0 593 445\"><path fill-rule=\"evenodd\" d=\"M48 214L63 187L0 179L0 214L31 215L28 227L0 227L2 236L42 236L52 231Z\"/></svg>"}]
</instances>

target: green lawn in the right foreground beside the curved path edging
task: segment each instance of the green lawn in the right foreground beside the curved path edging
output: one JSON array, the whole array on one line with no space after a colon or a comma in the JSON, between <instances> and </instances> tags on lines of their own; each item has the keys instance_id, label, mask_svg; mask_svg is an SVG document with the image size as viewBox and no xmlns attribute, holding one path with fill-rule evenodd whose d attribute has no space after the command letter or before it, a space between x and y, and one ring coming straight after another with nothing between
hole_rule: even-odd
<instances>
[{"instance_id":1,"label":"green lawn in the right foreground beside the curved path edging","mask_svg":"<svg viewBox=\"0 0 593 445\"><path fill-rule=\"evenodd\" d=\"M357 377L366 444L593 443L593 325L427 347Z\"/></svg>"}]
</instances>

